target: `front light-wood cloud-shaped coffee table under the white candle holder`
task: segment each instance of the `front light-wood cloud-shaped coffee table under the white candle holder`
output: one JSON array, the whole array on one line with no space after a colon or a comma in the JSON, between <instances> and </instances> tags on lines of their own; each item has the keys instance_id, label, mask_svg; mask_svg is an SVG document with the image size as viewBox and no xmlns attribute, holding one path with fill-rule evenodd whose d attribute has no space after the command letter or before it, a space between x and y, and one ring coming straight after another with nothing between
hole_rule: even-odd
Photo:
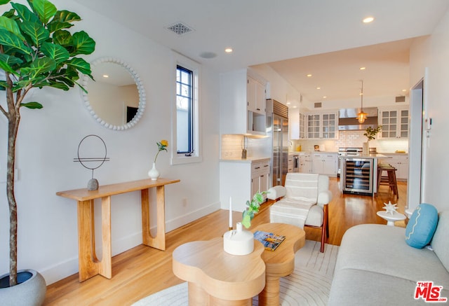
<instances>
[{"instance_id":1,"label":"front light-wood cloud-shaped coffee table under the white candle holder","mask_svg":"<svg viewBox=\"0 0 449 306\"><path fill-rule=\"evenodd\" d=\"M189 305L250 306L265 286L264 247L245 256L226 253L223 238L187 242L173 251L173 273L188 281Z\"/></svg>"}]
</instances>

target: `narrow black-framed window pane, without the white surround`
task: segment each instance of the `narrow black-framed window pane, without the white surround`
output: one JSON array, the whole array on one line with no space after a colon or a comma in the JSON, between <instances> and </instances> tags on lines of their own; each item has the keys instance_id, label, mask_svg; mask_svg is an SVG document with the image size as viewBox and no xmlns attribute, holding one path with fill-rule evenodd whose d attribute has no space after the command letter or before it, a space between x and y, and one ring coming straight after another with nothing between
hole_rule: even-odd
<instances>
[{"instance_id":1,"label":"narrow black-framed window pane, without the white surround","mask_svg":"<svg viewBox=\"0 0 449 306\"><path fill-rule=\"evenodd\" d=\"M176 151L186 156L194 153L193 74L189 69L176 67Z\"/></svg>"}]
</instances>

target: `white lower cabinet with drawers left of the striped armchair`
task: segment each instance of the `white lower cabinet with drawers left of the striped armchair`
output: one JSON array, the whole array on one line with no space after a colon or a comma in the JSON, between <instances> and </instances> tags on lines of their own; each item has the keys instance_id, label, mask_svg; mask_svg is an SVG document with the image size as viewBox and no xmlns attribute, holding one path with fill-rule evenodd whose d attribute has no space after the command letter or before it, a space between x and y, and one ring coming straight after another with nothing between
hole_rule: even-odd
<instances>
[{"instance_id":1,"label":"white lower cabinet with drawers left of the striped armchair","mask_svg":"<svg viewBox=\"0 0 449 306\"><path fill-rule=\"evenodd\" d=\"M220 160L221 208L229 209L229 198L232 197L232 210L243 211L246 201L251 200L257 191L271 187L269 176L270 158Z\"/></svg>"}]
</instances>

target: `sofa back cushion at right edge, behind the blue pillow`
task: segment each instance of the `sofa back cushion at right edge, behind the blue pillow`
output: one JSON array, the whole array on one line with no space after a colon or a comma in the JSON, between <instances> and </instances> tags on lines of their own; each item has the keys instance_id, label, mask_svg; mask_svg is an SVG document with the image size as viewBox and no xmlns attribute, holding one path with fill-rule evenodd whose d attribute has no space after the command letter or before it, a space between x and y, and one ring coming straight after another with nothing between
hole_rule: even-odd
<instances>
[{"instance_id":1,"label":"sofa back cushion at right edge, behind the blue pillow","mask_svg":"<svg viewBox=\"0 0 449 306\"><path fill-rule=\"evenodd\" d=\"M438 216L438 226L436 227L434 238L431 241L432 249L446 270L449 271L449 211L441 211ZM449 296L448 296L449 298Z\"/></svg>"}]
</instances>

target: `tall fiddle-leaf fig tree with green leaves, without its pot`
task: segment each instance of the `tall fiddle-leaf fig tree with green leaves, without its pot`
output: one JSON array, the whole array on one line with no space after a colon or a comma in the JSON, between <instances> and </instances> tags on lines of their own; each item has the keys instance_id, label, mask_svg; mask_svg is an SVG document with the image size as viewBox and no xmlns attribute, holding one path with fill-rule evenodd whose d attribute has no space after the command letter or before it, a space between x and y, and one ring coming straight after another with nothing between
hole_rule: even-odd
<instances>
[{"instance_id":1,"label":"tall fiddle-leaf fig tree with green leaves, without its pot","mask_svg":"<svg viewBox=\"0 0 449 306\"><path fill-rule=\"evenodd\" d=\"M0 5L9 2L0 0ZM6 105L0 104L0 111L8 120L6 195L10 212L10 287L17 284L14 169L20 110L42 108L39 102L25 102L25 96L32 88L48 86L69 90L79 85L76 83L79 73L91 76L91 65L76 56L95 50L95 41L86 32L67 30L73 22L81 20L79 15L59 11L47 0L27 0L27 3L29 7L11 2L11 9L0 17L0 73L4 73L0 76L0 90L6 92Z\"/></svg>"}]
</instances>

